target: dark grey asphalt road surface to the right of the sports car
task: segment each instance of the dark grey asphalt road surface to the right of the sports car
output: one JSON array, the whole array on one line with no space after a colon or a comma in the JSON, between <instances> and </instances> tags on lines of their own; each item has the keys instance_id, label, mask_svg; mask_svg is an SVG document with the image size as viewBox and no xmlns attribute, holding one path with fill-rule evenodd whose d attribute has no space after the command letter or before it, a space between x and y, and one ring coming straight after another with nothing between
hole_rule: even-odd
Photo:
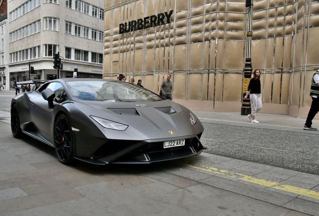
<instances>
[{"instance_id":1,"label":"dark grey asphalt road surface to the right of the sports car","mask_svg":"<svg viewBox=\"0 0 319 216\"><path fill-rule=\"evenodd\" d=\"M203 123L207 153L319 174L318 135Z\"/></svg>"}]
</instances>

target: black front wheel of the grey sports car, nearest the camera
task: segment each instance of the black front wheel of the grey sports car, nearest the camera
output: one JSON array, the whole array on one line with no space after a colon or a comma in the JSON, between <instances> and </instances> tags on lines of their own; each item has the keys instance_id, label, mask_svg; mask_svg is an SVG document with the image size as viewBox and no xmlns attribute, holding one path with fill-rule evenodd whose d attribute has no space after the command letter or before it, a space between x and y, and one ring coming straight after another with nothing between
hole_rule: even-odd
<instances>
[{"instance_id":1,"label":"black front wheel of the grey sports car, nearest the camera","mask_svg":"<svg viewBox=\"0 0 319 216\"><path fill-rule=\"evenodd\" d=\"M73 136L71 124L66 115L59 115L54 124L53 134L58 159L63 164L72 163L74 157Z\"/></svg>"}]
</instances>

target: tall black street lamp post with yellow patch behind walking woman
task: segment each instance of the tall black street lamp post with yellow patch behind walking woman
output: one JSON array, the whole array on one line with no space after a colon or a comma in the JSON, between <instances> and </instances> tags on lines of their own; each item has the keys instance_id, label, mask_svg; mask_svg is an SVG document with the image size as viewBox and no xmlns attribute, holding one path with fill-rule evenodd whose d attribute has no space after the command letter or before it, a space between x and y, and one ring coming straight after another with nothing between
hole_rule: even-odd
<instances>
[{"instance_id":1,"label":"tall black street lamp post with yellow patch behind walking woman","mask_svg":"<svg viewBox=\"0 0 319 216\"><path fill-rule=\"evenodd\" d=\"M247 49L246 49L246 59L245 67L243 69L244 84L243 84L243 94L241 103L241 115L248 115L251 113L250 98L243 100L246 95L247 87L251 78L252 65L251 65L251 38L252 38L252 12L253 12L253 0L246 0L246 7L248 8L248 31L247 31Z\"/></svg>"}]
</instances>

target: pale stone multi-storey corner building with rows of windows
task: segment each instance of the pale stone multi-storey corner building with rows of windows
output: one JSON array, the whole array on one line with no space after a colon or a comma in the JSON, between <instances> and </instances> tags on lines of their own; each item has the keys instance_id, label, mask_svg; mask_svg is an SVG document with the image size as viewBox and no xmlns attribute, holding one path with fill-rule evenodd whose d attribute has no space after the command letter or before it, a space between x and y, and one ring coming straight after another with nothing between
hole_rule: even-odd
<instances>
[{"instance_id":1,"label":"pale stone multi-storey corner building with rows of windows","mask_svg":"<svg viewBox=\"0 0 319 216\"><path fill-rule=\"evenodd\" d=\"M104 2L10 0L8 70L14 80L102 77ZM53 68L59 52L63 68ZM30 66L35 74L29 74ZM7 77L9 79L9 77Z\"/></svg>"}]
</instances>

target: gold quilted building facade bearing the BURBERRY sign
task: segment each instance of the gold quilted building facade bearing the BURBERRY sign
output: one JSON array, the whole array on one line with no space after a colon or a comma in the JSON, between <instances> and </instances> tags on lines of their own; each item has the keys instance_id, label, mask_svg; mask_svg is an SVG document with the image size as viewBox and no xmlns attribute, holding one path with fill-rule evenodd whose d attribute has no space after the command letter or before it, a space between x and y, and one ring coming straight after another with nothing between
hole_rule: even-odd
<instances>
[{"instance_id":1,"label":"gold quilted building facade bearing the BURBERRY sign","mask_svg":"<svg viewBox=\"0 0 319 216\"><path fill-rule=\"evenodd\" d=\"M103 77L122 73L157 92L169 72L174 101L193 110L240 112L247 87L245 2L105 0ZM171 10L169 23L154 26L154 16ZM138 19L147 27L120 33L120 24ZM252 28L260 112L306 117L311 76L319 68L319 2L254 0Z\"/></svg>"}]
</instances>

